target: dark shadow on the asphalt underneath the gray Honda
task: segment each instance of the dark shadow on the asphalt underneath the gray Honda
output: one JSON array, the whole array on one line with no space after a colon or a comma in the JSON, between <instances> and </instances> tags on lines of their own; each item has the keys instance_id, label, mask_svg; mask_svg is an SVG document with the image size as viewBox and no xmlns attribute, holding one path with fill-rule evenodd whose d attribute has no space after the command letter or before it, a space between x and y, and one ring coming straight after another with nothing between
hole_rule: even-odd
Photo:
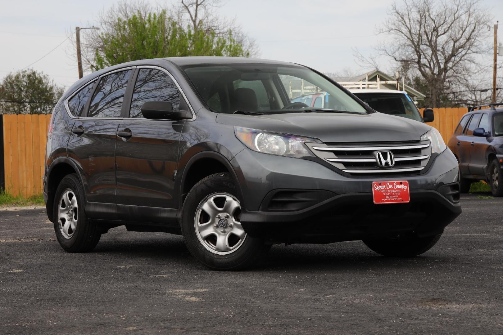
<instances>
[{"instance_id":1,"label":"dark shadow on the asphalt underneath the gray Honda","mask_svg":"<svg viewBox=\"0 0 503 335\"><path fill-rule=\"evenodd\" d=\"M166 236L167 237L167 236ZM129 261L151 260L154 263L166 262L193 264L206 269L191 256L182 237L141 239L133 241L106 241L98 244L95 253L120 255ZM375 271L393 269L410 269L415 267L431 268L432 263L454 261L452 255L446 256L432 251L414 258L383 257L369 250L361 241L333 243L329 245L274 245L267 255L253 268L252 272L309 270L309 271L342 271L372 269Z\"/></svg>"}]
</instances>

